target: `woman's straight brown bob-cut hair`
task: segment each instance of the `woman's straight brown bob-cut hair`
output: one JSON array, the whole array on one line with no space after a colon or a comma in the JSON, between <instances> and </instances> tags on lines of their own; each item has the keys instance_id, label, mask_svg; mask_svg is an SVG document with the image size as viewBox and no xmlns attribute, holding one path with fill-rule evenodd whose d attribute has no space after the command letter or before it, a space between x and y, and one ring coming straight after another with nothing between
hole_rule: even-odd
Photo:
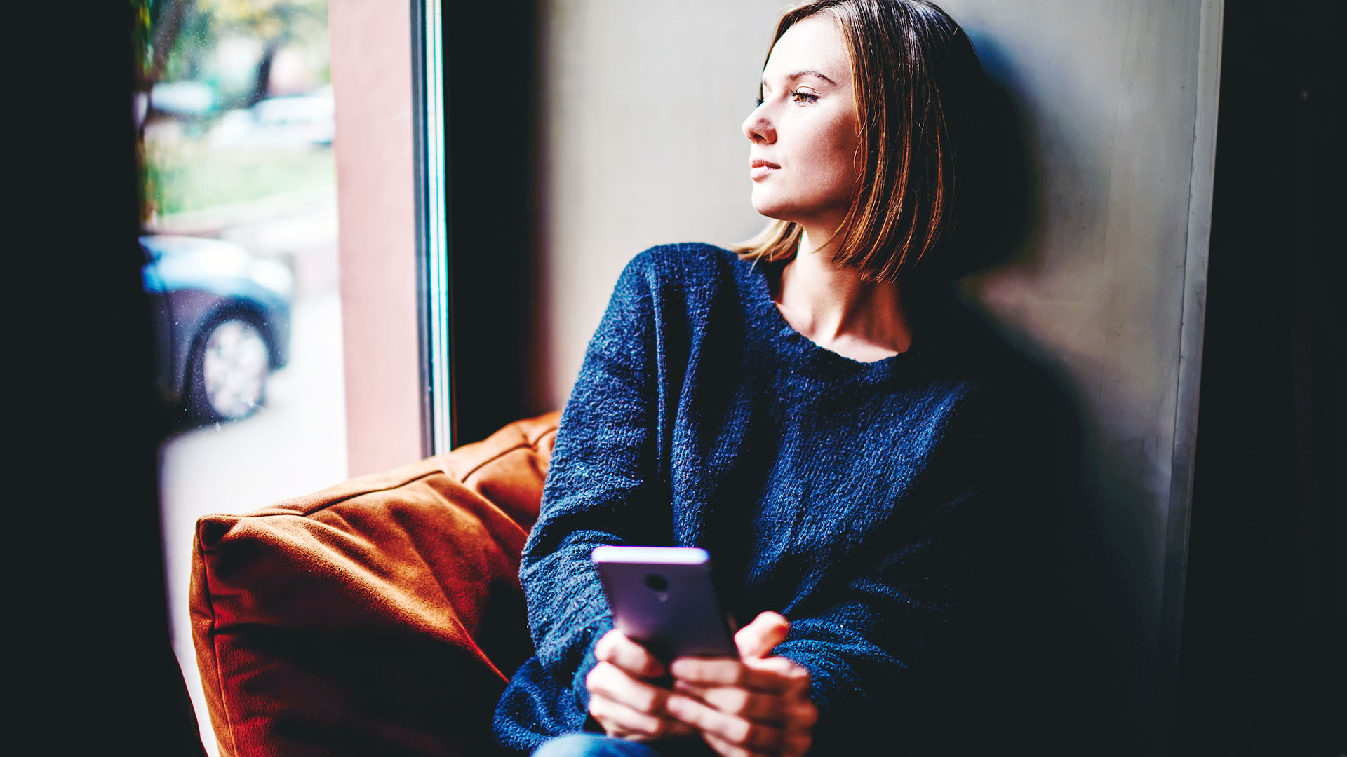
<instances>
[{"instance_id":1,"label":"woman's straight brown bob-cut hair","mask_svg":"<svg viewBox=\"0 0 1347 757\"><path fill-rule=\"evenodd\" d=\"M851 58L863 154L834 261L866 282L897 282L951 236L962 210L958 171L982 66L963 30L924 0L810 0L788 8L772 47L818 13L835 18ZM772 48L768 48L768 58ZM766 63L764 63L766 67ZM803 229L772 221L734 245L744 259L789 260ZM925 268L925 267L923 267Z\"/></svg>"}]
</instances>

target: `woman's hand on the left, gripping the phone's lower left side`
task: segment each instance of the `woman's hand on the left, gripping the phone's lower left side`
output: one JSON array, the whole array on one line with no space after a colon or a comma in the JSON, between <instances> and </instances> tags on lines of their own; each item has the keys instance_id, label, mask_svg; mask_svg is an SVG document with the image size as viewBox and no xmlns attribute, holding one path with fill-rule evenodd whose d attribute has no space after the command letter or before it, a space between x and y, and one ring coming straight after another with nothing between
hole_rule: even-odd
<instances>
[{"instance_id":1,"label":"woman's hand on the left, gripping the phone's lower left side","mask_svg":"<svg viewBox=\"0 0 1347 757\"><path fill-rule=\"evenodd\" d=\"M585 687L590 715L607 735L648 741L695 733L665 709L669 691L651 683L665 675L664 665L644 647L613 629L594 645L594 656L598 665L585 676Z\"/></svg>"}]
</instances>

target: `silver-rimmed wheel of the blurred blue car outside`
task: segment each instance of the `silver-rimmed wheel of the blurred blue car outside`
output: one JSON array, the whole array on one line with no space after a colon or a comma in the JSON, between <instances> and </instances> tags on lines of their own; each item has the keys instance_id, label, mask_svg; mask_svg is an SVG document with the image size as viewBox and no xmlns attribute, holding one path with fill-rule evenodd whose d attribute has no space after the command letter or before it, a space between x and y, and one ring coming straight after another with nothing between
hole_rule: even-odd
<instances>
[{"instance_id":1,"label":"silver-rimmed wheel of the blurred blue car outside","mask_svg":"<svg viewBox=\"0 0 1347 757\"><path fill-rule=\"evenodd\" d=\"M187 401L202 420L248 418L263 404L271 350L256 323L224 317L202 330L191 352Z\"/></svg>"}]
</instances>

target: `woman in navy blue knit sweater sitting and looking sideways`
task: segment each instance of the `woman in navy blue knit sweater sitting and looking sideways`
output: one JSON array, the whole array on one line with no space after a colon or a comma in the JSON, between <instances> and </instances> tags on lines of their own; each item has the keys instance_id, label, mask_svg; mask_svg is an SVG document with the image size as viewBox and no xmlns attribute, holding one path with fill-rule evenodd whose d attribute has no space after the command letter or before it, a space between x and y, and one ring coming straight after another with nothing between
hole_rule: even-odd
<instances>
[{"instance_id":1,"label":"woman in navy blue knit sweater sitting and looking sideways","mask_svg":"<svg viewBox=\"0 0 1347 757\"><path fill-rule=\"evenodd\" d=\"M501 699L505 746L845 754L919 725L923 665L987 585L1022 470L985 365L920 302L952 255L981 81L929 3L783 16L744 121L775 221L738 255L653 248L618 280L524 548L537 656ZM722 603L756 618L741 659L665 668L613 630L598 544L709 550Z\"/></svg>"}]
</instances>

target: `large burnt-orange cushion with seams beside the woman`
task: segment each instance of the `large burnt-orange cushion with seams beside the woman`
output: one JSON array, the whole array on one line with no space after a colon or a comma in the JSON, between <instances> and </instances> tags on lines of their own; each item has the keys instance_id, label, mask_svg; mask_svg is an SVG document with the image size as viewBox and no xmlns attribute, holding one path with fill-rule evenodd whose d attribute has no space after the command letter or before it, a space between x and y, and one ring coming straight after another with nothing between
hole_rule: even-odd
<instances>
[{"instance_id":1,"label":"large burnt-orange cushion with seams beside the woman","mask_svg":"<svg viewBox=\"0 0 1347 757\"><path fill-rule=\"evenodd\" d=\"M221 754L489 752L532 653L519 554L556 422L197 521L193 638Z\"/></svg>"}]
</instances>

